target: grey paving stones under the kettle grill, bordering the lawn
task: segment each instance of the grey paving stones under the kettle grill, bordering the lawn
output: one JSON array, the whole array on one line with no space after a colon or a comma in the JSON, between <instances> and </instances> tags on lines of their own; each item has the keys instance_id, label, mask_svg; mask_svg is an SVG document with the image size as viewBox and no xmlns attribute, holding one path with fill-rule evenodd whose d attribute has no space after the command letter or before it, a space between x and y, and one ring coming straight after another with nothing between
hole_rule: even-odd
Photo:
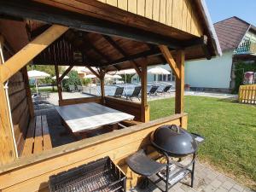
<instances>
[{"instance_id":1,"label":"grey paving stones under the kettle grill, bordering the lawn","mask_svg":"<svg viewBox=\"0 0 256 192\"><path fill-rule=\"evenodd\" d=\"M188 186L190 177L183 179L182 183L177 183L169 191L175 192L255 192L241 183L237 183L230 177L224 176L222 173L216 172L201 163L195 166L195 183L194 188ZM149 183L147 189L130 189L130 192L160 192L152 183Z\"/></svg>"}]
</instances>

